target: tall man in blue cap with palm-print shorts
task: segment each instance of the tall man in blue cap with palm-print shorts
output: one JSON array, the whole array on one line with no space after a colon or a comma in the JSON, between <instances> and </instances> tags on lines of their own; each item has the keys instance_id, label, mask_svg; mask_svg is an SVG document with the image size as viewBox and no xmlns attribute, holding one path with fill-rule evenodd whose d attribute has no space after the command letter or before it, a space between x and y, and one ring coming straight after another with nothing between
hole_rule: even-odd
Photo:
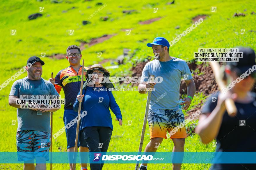
<instances>
[{"instance_id":1,"label":"tall man in blue cap with palm-print shorts","mask_svg":"<svg viewBox=\"0 0 256 170\"><path fill-rule=\"evenodd\" d=\"M157 147L163 141L163 138L170 137L173 140L173 152L184 152L186 138L186 128L184 127L184 114L179 109L179 87L181 78L187 85L188 97L184 98L181 105L182 109L187 110L195 94L195 83L187 63L169 54L169 42L163 37L157 37L152 43L147 43L152 47L155 60L145 65L142 71L141 83L138 86L139 93L145 94L146 88L155 88L152 91L148 118L150 129L150 142L145 148L145 152L156 152ZM162 77L161 83L151 83L151 75ZM175 128L178 128L174 132ZM166 132L170 132L166 134ZM173 156L175 158L175 154ZM182 156L183 158L183 156ZM181 163L173 164L173 170L179 170ZM147 162L140 165L139 170L147 170Z\"/></svg>"}]
</instances>

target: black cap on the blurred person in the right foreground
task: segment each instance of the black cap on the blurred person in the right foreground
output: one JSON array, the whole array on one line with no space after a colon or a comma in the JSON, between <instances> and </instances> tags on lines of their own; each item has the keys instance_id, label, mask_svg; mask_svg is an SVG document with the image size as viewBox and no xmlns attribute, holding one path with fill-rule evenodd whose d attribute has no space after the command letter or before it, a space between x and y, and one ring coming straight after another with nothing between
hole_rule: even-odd
<instances>
[{"instance_id":1,"label":"black cap on the blurred person in the right foreground","mask_svg":"<svg viewBox=\"0 0 256 170\"><path fill-rule=\"evenodd\" d=\"M242 75L244 72L246 72L249 68L252 68L254 65L256 65L255 62L255 52L251 48L246 47L238 47L239 52L243 52L243 58L239 58L238 62L227 62L227 65L230 66L230 68L235 71L238 75ZM253 73L255 73L253 71Z\"/></svg>"}]
</instances>

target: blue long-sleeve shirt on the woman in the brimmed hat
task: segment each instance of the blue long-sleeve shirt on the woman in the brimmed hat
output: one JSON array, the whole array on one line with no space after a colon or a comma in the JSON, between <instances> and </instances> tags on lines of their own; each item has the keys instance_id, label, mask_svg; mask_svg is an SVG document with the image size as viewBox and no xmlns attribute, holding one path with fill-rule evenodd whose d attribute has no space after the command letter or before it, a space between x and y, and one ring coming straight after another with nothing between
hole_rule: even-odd
<instances>
[{"instance_id":1,"label":"blue long-sleeve shirt on the woman in the brimmed hat","mask_svg":"<svg viewBox=\"0 0 256 170\"><path fill-rule=\"evenodd\" d=\"M81 113L87 111L86 116L81 118L80 130L85 127L103 126L110 127L113 130L112 118L109 108L113 111L116 118L122 119L119 106L111 91L107 91L106 87L97 87L102 91L94 91L95 87L86 87L83 89L84 97L81 105ZM78 95L80 92L78 93ZM73 109L78 112L79 101L76 99Z\"/></svg>"}]
</instances>

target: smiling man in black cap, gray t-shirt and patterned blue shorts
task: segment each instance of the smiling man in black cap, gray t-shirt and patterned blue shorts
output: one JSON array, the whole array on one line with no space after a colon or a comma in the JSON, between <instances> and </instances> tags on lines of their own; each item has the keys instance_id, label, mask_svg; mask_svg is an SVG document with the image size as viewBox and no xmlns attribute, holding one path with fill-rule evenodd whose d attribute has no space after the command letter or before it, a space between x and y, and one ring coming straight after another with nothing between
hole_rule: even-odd
<instances>
[{"instance_id":1,"label":"smiling man in black cap, gray t-shirt and patterned blue shorts","mask_svg":"<svg viewBox=\"0 0 256 170\"><path fill-rule=\"evenodd\" d=\"M50 112L58 108L22 109L16 104L21 95L58 95L54 86L41 77L44 64L39 57L30 57L26 65L28 76L15 81L9 95L9 105L17 108L17 154L18 161L24 162L24 170L45 170L45 161L49 160Z\"/></svg>"}]
</instances>

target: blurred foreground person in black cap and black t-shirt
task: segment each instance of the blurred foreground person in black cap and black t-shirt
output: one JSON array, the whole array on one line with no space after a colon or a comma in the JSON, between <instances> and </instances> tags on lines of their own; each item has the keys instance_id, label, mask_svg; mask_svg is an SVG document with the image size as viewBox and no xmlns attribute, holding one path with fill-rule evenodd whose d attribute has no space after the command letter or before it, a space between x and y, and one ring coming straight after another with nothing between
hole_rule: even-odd
<instances>
[{"instance_id":1,"label":"blurred foreground person in black cap and black t-shirt","mask_svg":"<svg viewBox=\"0 0 256 170\"><path fill-rule=\"evenodd\" d=\"M243 52L243 58L225 65L223 80L229 85L223 89L224 93L217 92L209 97L195 129L205 144L216 138L216 156L211 170L256 169L255 157L249 154L256 152L256 93L251 91L256 81L255 52L243 47L239 52ZM224 101L227 98L232 98L237 107L234 117L226 111Z\"/></svg>"}]
</instances>

